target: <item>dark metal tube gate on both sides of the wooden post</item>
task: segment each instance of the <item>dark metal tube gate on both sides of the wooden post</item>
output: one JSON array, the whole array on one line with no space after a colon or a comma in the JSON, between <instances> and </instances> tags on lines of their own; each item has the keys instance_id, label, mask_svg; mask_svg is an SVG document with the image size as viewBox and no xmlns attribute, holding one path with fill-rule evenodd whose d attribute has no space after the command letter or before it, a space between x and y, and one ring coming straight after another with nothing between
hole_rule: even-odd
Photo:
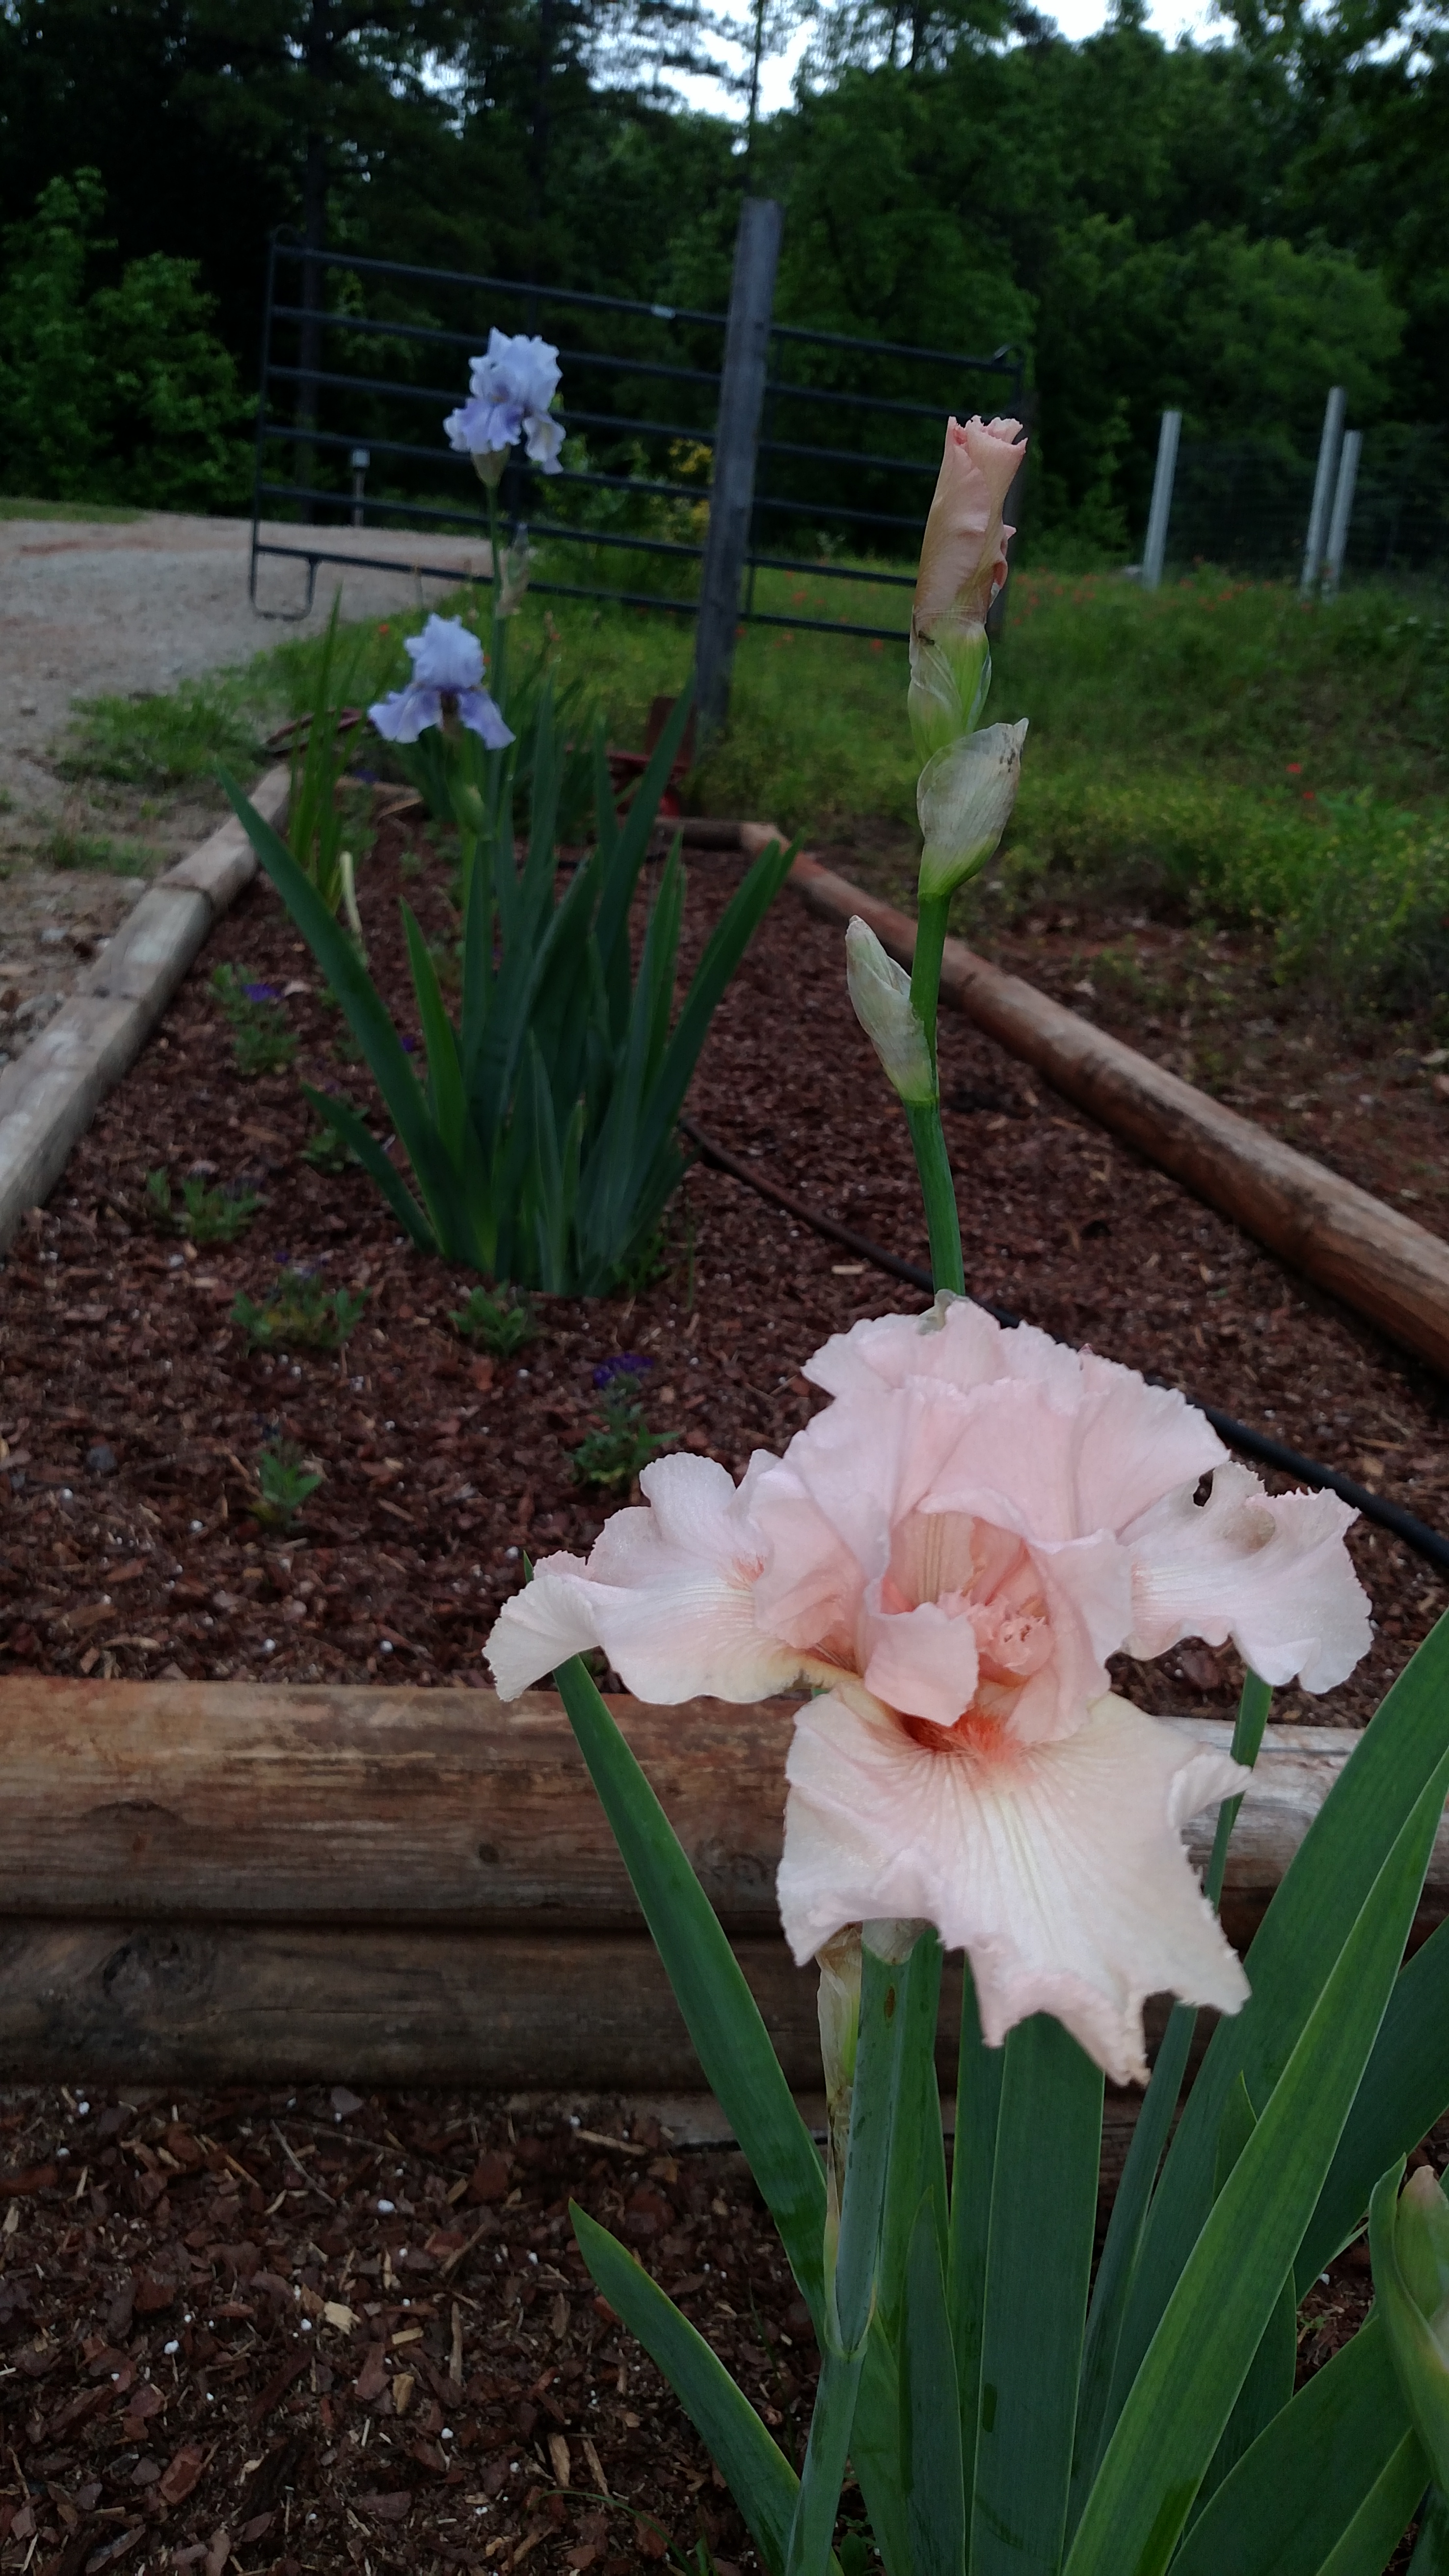
<instances>
[{"instance_id":1,"label":"dark metal tube gate on both sides of the wooden post","mask_svg":"<svg viewBox=\"0 0 1449 2576\"><path fill-rule=\"evenodd\" d=\"M464 399L490 325L559 345L562 471L511 464L500 489L511 533L526 526L541 549L531 587L696 613L727 314L317 252L289 234L273 240L266 294L253 605L304 616L320 564L394 569L397 554L358 546L366 528L418 536L418 577L456 582L456 559L441 546L428 559L428 538L485 536L485 513L441 420ZM758 595L758 574L869 582L884 616L915 580L902 567L920 544L944 417L1018 399L1008 348L980 358L771 322L740 618L902 636L900 616L786 618ZM302 608L263 608L263 564L304 569Z\"/></svg>"}]
</instances>

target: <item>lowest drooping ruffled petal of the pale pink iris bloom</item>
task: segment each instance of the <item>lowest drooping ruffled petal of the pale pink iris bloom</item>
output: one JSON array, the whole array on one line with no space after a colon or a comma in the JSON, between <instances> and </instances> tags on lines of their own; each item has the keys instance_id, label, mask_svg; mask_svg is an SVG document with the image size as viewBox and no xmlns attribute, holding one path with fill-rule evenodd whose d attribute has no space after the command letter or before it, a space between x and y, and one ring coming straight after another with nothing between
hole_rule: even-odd
<instances>
[{"instance_id":1,"label":"lowest drooping ruffled petal of the pale pink iris bloom","mask_svg":"<svg viewBox=\"0 0 1449 2576\"><path fill-rule=\"evenodd\" d=\"M1052 2012L1116 2084L1147 2074L1150 1994L1248 1999L1181 1826L1250 1775L1127 1700L1060 1744L933 1749L830 1695L799 1710L786 1775L779 1904L802 1965L851 1922L920 1917L967 1950L987 2045Z\"/></svg>"}]
</instances>

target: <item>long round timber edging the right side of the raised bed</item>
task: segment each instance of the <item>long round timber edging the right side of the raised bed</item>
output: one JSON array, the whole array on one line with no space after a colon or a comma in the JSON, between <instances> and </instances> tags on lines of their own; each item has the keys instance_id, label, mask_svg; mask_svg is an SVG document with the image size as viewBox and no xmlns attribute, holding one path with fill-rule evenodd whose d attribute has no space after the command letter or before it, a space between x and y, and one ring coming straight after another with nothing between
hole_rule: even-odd
<instances>
[{"instance_id":1,"label":"long round timber edging the right side of the raised bed","mask_svg":"<svg viewBox=\"0 0 1449 2576\"><path fill-rule=\"evenodd\" d=\"M701 848L740 848L750 858L784 840L773 824L758 822L686 824L686 835L699 835ZM848 922L856 912L890 956L910 966L915 922L895 904L822 868L810 853L794 860L789 884L830 920ZM1449 1244L1439 1234L1341 1180L1312 1154L1279 1144L1253 1118L1109 1038L1021 976L987 966L964 940L946 940L941 999L1292 1270L1449 1373Z\"/></svg>"}]
</instances>

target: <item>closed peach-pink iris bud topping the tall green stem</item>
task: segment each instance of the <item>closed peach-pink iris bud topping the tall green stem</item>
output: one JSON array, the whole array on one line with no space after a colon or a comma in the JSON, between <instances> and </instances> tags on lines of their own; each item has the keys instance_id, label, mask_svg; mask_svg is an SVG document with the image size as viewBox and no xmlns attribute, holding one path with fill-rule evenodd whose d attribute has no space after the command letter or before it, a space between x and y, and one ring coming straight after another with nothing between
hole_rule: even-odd
<instances>
[{"instance_id":1,"label":"closed peach-pink iris bud topping the tall green stem","mask_svg":"<svg viewBox=\"0 0 1449 2576\"><path fill-rule=\"evenodd\" d=\"M975 726L990 685L987 608L1006 582L1018 420L949 420L910 613L910 729L923 760Z\"/></svg>"}]
</instances>

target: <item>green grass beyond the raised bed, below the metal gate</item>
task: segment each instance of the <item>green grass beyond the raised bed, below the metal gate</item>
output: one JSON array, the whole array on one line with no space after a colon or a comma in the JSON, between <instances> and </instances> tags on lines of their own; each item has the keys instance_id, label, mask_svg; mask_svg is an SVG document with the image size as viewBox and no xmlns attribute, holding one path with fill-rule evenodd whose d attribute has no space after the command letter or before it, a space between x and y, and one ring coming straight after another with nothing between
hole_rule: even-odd
<instances>
[{"instance_id":1,"label":"green grass beyond the raised bed, below the metal gate","mask_svg":"<svg viewBox=\"0 0 1449 2576\"><path fill-rule=\"evenodd\" d=\"M539 577L588 577L554 546ZM608 567L619 574L619 559ZM477 595L438 603L485 613ZM830 623L905 623L910 592L763 572L755 605ZM407 677L420 613L376 621L364 703ZM639 744L650 698L688 675L694 621L655 608L531 592L521 657ZM77 765L126 781L260 760L307 706L320 639L291 636L242 672L168 698L83 708ZM1364 585L1302 605L1289 585L1196 572L1160 592L1114 574L1024 569L995 654L993 719L1029 716L1021 799L995 871L967 904L1006 920L1070 886L1073 902L1256 922L1287 976L1338 1005L1444 1012L1449 981L1449 603ZM387 770L371 742L364 765ZM706 747L691 804L768 817L807 837L861 822L908 848L915 755L905 647L810 626L748 626L732 719ZM869 837L869 832L866 832ZM967 904L962 907L969 920Z\"/></svg>"}]
</instances>

